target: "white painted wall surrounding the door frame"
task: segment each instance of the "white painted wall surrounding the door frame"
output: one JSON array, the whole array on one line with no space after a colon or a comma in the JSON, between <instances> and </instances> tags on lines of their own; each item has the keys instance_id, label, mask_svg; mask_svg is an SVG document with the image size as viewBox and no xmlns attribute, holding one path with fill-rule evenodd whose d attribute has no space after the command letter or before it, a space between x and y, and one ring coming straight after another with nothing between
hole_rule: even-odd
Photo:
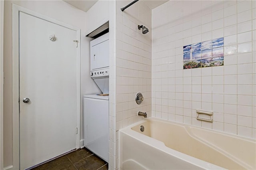
<instances>
[{"instance_id":1,"label":"white painted wall surrounding the door frame","mask_svg":"<svg viewBox=\"0 0 256 170\"><path fill-rule=\"evenodd\" d=\"M1 1L2 2L2 1ZM82 95L99 93L90 78L90 50L85 38L86 13L56 1L4 1L4 167L12 165L12 3L81 29L81 139L83 138ZM2 21L2 20L1 20ZM2 35L2 34L1 34ZM88 74L86 74L88 73ZM1 100L2 101L2 100ZM2 129L2 128L1 128Z\"/></svg>"}]
</instances>

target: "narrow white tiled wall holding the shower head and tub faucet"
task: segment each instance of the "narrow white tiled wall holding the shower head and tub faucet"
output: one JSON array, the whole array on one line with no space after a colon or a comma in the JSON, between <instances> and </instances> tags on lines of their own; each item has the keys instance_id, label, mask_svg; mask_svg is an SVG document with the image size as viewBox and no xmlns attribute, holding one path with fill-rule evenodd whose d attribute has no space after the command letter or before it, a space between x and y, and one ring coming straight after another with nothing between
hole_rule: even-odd
<instances>
[{"instance_id":1,"label":"narrow white tiled wall holding the shower head and tub faucet","mask_svg":"<svg viewBox=\"0 0 256 170\"><path fill-rule=\"evenodd\" d=\"M138 111L146 112L148 117L151 117L152 14L144 1L136 2L124 12L120 8L129 4L130 1L113 2L116 3L116 105L113 106L116 109L116 115L113 117L113 122L116 125L114 134L118 134L120 128L143 119L137 116ZM142 34L142 30L138 30L138 25L146 26L149 32ZM163 66L155 69L168 71L168 58L163 59L162 62ZM168 119L168 79L162 81L160 90L163 92L157 95L163 100L157 101L162 105L159 110L164 112L163 118ZM144 97L140 105L135 102L135 95L138 92ZM116 141L112 141L113 143L118 145L118 137ZM118 153L118 148L115 153ZM113 157L115 159L113 159L111 169L118 169L118 154L114 154Z\"/></svg>"}]
</instances>

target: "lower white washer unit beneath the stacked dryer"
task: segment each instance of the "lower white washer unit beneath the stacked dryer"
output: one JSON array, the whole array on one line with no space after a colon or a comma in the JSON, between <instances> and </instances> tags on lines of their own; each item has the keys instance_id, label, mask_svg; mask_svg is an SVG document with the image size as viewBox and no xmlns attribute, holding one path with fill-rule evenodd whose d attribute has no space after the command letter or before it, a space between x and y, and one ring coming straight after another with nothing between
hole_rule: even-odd
<instances>
[{"instance_id":1,"label":"lower white washer unit beneath the stacked dryer","mask_svg":"<svg viewBox=\"0 0 256 170\"><path fill-rule=\"evenodd\" d=\"M108 162L108 96L84 95L84 146Z\"/></svg>"}]
</instances>

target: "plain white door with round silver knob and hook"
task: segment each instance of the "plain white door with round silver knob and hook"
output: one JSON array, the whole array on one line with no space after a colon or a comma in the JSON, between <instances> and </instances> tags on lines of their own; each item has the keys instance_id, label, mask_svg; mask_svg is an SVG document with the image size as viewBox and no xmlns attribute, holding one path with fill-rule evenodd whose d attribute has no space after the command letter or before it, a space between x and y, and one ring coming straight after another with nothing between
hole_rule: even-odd
<instances>
[{"instance_id":1,"label":"plain white door with round silver knob and hook","mask_svg":"<svg viewBox=\"0 0 256 170\"><path fill-rule=\"evenodd\" d=\"M20 12L20 169L76 148L76 31ZM55 34L56 41L49 36ZM23 99L30 101L24 103Z\"/></svg>"}]
</instances>

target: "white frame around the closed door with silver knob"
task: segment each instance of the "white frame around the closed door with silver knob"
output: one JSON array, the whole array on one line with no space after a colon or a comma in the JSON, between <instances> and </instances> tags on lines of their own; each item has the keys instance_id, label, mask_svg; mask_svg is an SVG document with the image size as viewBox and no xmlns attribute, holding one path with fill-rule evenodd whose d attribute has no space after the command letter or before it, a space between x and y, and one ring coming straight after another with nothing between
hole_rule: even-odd
<instances>
[{"instance_id":1,"label":"white frame around the closed door with silver knob","mask_svg":"<svg viewBox=\"0 0 256 170\"><path fill-rule=\"evenodd\" d=\"M13 119L13 168L20 169L20 105L19 105L19 12L46 20L53 24L76 31L76 40L79 41L76 49L76 83L77 83L77 104L76 104L76 149L80 148L80 35L81 30L69 24L60 22L48 16L28 10L22 6L12 4L12 119ZM74 44L75 45L75 44Z\"/></svg>"}]
</instances>

